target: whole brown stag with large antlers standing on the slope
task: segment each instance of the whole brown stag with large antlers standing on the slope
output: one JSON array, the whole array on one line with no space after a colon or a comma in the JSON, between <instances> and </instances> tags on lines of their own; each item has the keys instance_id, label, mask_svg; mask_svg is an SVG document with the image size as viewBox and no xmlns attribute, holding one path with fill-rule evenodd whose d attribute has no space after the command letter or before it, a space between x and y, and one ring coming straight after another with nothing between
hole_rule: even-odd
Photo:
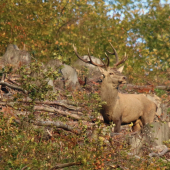
<instances>
[{"instance_id":1,"label":"whole brown stag with large antlers standing on the slope","mask_svg":"<svg viewBox=\"0 0 170 170\"><path fill-rule=\"evenodd\" d=\"M118 66L123 64L128 57L125 55L123 59L119 61L115 48L111 43L110 45L113 52L105 52L107 63L100 59L102 64L96 64L93 62L89 49L88 61L79 56L77 48L74 45L73 49L80 60L97 66L103 75L100 97L105 103L102 104L100 113L103 116L104 122L106 124L111 122L115 124L114 133L119 133L121 125L123 124L133 124L132 130L139 131L144 125L154 121L157 106L143 94L126 94L119 92L119 85L125 84L127 78L122 75L124 65L119 68ZM116 57L116 63L113 67L109 66L110 59L108 54L115 55Z\"/></svg>"}]
</instances>

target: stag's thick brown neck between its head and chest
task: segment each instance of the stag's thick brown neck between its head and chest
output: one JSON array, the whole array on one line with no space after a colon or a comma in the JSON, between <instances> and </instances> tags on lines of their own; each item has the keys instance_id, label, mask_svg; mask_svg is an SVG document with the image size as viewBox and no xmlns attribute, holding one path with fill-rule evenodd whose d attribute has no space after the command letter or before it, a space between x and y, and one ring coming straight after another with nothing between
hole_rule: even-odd
<instances>
[{"instance_id":1,"label":"stag's thick brown neck between its head and chest","mask_svg":"<svg viewBox=\"0 0 170 170\"><path fill-rule=\"evenodd\" d=\"M112 107L116 104L118 98L118 88L113 84L107 84L105 82L101 85L101 99L107 102L107 107Z\"/></svg>"}]
</instances>

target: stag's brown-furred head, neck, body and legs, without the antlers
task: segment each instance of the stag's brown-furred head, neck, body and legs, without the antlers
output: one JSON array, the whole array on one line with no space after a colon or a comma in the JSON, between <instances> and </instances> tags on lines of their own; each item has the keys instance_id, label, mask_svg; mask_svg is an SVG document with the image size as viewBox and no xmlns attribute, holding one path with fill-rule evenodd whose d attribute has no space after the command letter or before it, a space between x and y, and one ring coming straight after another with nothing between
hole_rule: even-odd
<instances>
[{"instance_id":1,"label":"stag's brown-furred head, neck, body and legs, without the antlers","mask_svg":"<svg viewBox=\"0 0 170 170\"><path fill-rule=\"evenodd\" d=\"M143 94L122 94L118 86L125 82L125 77L117 71L100 68L104 75L101 85L101 99L106 102L102 106L101 114L106 123L115 123L115 132L120 131L121 124L134 122L133 130L140 130L142 125L151 123L156 114L156 104ZM136 122L138 120L138 122ZM136 122L136 123L135 123Z\"/></svg>"}]
</instances>

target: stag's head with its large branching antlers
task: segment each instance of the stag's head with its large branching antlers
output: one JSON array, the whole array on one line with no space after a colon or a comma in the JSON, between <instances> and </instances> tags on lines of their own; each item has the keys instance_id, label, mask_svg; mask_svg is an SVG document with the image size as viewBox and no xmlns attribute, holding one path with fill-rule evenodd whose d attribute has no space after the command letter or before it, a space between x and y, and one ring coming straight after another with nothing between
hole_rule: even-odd
<instances>
[{"instance_id":1,"label":"stag's head with its large branching antlers","mask_svg":"<svg viewBox=\"0 0 170 170\"><path fill-rule=\"evenodd\" d=\"M82 60L85 63L93 64L99 68L101 74L103 75L103 78L102 78L103 84L112 85L114 88L117 88L119 84L126 83L126 77L121 74L124 66L120 68L117 68L117 66L124 63L127 59L127 56L125 55L124 58L121 61L119 61L116 50L114 49L111 43L110 45L113 49L113 52L107 51L107 53L115 55L116 57L116 63L114 64L113 67L109 67L110 60L109 60L107 53L105 53L105 56L107 58L107 64L105 64L101 59L100 60L102 61L103 64L96 64L92 61L89 50L88 50L89 61L87 61L79 56L79 54L77 53L77 49L74 45L73 45L73 48L74 48L75 54L80 60Z\"/></svg>"}]
</instances>

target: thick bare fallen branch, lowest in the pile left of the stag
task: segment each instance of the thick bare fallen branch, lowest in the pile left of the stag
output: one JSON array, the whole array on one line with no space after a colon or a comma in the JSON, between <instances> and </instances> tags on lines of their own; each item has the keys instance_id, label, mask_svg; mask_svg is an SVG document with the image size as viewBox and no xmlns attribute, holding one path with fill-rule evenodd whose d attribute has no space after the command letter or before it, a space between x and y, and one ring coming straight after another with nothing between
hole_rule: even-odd
<instances>
[{"instance_id":1,"label":"thick bare fallen branch, lowest in the pile left of the stag","mask_svg":"<svg viewBox=\"0 0 170 170\"><path fill-rule=\"evenodd\" d=\"M71 131L75 134L81 134L81 131L79 129L75 130L73 127L66 125L60 121L31 121L34 125L38 126L55 126L56 128L62 128L67 131Z\"/></svg>"}]
</instances>

